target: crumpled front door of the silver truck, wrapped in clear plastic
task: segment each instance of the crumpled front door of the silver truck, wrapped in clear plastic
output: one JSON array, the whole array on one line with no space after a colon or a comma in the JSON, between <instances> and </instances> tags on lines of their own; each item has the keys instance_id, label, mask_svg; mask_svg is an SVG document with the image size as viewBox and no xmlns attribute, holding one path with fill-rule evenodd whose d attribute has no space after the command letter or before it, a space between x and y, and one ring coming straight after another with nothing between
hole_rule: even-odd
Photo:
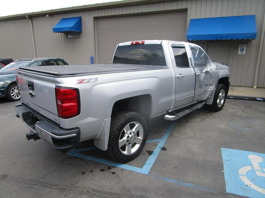
<instances>
[{"instance_id":1,"label":"crumpled front door of the silver truck, wrapped in clear plastic","mask_svg":"<svg viewBox=\"0 0 265 198\"><path fill-rule=\"evenodd\" d=\"M189 45L196 74L195 96L193 101L205 100L213 94L216 69L207 54L198 45Z\"/></svg>"}]
</instances>

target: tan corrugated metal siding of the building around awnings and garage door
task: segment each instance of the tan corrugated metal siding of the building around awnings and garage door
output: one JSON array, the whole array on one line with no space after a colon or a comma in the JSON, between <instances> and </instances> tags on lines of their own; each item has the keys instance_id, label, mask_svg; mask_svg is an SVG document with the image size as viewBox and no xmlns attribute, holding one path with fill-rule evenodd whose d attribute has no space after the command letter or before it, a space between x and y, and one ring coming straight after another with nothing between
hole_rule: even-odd
<instances>
[{"instance_id":1,"label":"tan corrugated metal siding of the building around awnings and garage door","mask_svg":"<svg viewBox=\"0 0 265 198\"><path fill-rule=\"evenodd\" d=\"M166 10L188 9L187 28L191 18L256 15L258 38L253 41L231 41L229 62L231 70L231 85L253 86L254 73L260 43L261 26L265 10L264 0L179 0L161 1L160 3L147 3L127 6L116 6L104 9L94 9L82 12L51 15L50 17L33 18L34 36L36 41L36 53L38 57L59 56L70 64L89 63L89 56L95 56L94 17L130 15L136 13L159 12ZM63 17L82 17L80 39L66 39L63 33L52 33L52 27ZM1 21L0 34L5 41L5 50L0 49L1 55L12 58L24 58L33 55L31 32L28 19ZM154 19L156 20L156 19ZM172 19L174 20L174 19ZM5 24L3 28L2 24ZM17 24L17 25L15 25ZM25 24L25 25L23 25ZM24 29L24 30L23 30ZM21 32L21 30L23 30ZM12 35L12 37L10 36ZM20 37L20 39L19 39ZM21 45L7 45L7 41L15 39ZM207 42L195 42L203 48L207 48ZM237 55L239 44L247 43L247 53L244 56ZM24 48L23 46L27 47ZM16 49L17 48L17 49ZM260 70L263 71L264 59L261 61ZM263 85L262 85L263 86ZM264 87L264 86L263 86Z\"/></svg>"}]
</instances>

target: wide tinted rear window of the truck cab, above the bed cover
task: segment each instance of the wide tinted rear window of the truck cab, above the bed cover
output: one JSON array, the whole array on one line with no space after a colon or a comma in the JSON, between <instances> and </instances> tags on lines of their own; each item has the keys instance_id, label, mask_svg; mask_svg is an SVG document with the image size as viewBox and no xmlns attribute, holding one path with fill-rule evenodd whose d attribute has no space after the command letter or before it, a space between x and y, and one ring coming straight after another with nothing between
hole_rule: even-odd
<instances>
[{"instance_id":1,"label":"wide tinted rear window of the truck cab, above the bed cover","mask_svg":"<svg viewBox=\"0 0 265 198\"><path fill-rule=\"evenodd\" d=\"M166 66L164 50L160 44L118 46L113 63Z\"/></svg>"}]
</instances>

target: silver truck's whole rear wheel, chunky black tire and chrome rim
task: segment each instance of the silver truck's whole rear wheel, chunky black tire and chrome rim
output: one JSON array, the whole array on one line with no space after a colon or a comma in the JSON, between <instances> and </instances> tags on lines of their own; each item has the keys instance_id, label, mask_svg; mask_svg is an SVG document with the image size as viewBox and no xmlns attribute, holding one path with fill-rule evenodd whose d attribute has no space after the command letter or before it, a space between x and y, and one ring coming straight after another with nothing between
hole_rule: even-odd
<instances>
[{"instance_id":1,"label":"silver truck's whole rear wheel, chunky black tire and chrome rim","mask_svg":"<svg viewBox=\"0 0 265 198\"><path fill-rule=\"evenodd\" d=\"M121 111L111 118L107 154L120 163L137 157L147 139L147 123L138 113Z\"/></svg>"}]
</instances>

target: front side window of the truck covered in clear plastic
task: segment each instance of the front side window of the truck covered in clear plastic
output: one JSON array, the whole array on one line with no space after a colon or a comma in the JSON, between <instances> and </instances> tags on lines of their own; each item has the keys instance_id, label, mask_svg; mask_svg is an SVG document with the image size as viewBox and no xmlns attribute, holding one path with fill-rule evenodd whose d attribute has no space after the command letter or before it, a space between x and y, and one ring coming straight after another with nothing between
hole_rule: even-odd
<instances>
[{"instance_id":1,"label":"front side window of the truck covered in clear plastic","mask_svg":"<svg viewBox=\"0 0 265 198\"><path fill-rule=\"evenodd\" d=\"M212 63L207 54L200 47L191 45L189 47L193 55L195 67L207 67Z\"/></svg>"}]
</instances>

